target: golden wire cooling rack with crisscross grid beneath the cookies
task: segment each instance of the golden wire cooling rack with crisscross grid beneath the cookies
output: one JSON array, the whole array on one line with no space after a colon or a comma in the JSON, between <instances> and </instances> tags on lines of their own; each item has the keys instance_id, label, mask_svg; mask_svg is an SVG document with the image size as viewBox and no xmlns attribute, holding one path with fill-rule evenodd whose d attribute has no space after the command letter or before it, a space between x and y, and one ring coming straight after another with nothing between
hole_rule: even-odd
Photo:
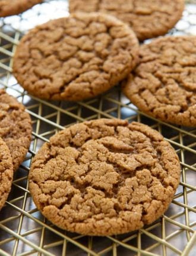
<instances>
[{"instance_id":1,"label":"golden wire cooling rack with crisscross grid beneath the cookies","mask_svg":"<svg viewBox=\"0 0 196 256\"><path fill-rule=\"evenodd\" d=\"M172 1L172 0L171 0ZM15 173L12 191L0 212L0 255L196 255L196 129L158 122L138 111L116 87L78 103L48 102L28 95L11 75L12 56L21 36L36 24L68 15L66 0L48 0L20 16L0 18L0 87L27 107L33 140L26 161ZM184 17L170 32L196 35L196 1L187 1ZM181 160L181 183L162 218L138 232L104 238L65 232L37 211L28 190L31 159L48 138L64 126L96 118L139 121L160 131Z\"/></svg>"}]
</instances>

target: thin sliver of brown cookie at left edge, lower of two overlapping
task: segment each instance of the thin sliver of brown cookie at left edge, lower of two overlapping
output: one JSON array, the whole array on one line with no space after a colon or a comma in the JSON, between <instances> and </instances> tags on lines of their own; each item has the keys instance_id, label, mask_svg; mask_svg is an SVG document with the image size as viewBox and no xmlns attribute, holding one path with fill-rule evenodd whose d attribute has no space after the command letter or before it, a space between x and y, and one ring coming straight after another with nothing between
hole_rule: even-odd
<instances>
[{"instance_id":1,"label":"thin sliver of brown cookie at left edge, lower of two overlapping","mask_svg":"<svg viewBox=\"0 0 196 256\"><path fill-rule=\"evenodd\" d=\"M2 138L0 138L0 210L10 193L13 173L10 150Z\"/></svg>"}]
</instances>

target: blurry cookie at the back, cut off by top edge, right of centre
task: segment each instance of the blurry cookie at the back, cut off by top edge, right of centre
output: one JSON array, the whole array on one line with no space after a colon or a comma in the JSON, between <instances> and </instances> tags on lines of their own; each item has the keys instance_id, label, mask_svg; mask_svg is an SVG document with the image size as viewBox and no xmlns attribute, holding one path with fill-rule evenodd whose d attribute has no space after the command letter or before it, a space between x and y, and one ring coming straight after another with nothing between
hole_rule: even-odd
<instances>
[{"instance_id":1,"label":"blurry cookie at the back, cut off by top edge, right of centre","mask_svg":"<svg viewBox=\"0 0 196 256\"><path fill-rule=\"evenodd\" d=\"M69 0L69 11L100 11L129 24L138 39L165 35L184 10L184 0Z\"/></svg>"}]
</instances>

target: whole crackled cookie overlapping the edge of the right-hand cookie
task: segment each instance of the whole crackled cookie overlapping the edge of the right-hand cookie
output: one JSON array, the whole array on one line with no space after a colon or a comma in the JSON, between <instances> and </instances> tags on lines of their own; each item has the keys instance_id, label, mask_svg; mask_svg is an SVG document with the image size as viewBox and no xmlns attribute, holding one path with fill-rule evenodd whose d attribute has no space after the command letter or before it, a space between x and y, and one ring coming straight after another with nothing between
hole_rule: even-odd
<instances>
[{"instance_id":1,"label":"whole crackled cookie overlapping the edge of the right-hand cookie","mask_svg":"<svg viewBox=\"0 0 196 256\"><path fill-rule=\"evenodd\" d=\"M83 100L116 85L135 67L138 41L106 14L74 14L37 26L21 40L14 75L30 94Z\"/></svg>"}]
</instances>

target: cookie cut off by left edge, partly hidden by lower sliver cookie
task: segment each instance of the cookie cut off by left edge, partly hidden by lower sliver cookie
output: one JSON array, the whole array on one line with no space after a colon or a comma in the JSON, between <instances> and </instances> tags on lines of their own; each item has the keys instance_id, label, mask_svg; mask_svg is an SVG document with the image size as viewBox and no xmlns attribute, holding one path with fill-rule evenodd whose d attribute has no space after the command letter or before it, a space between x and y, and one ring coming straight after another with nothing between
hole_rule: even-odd
<instances>
[{"instance_id":1,"label":"cookie cut off by left edge, partly hidden by lower sliver cookie","mask_svg":"<svg viewBox=\"0 0 196 256\"><path fill-rule=\"evenodd\" d=\"M0 137L10 149L14 171L23 162L31 142L31 119L23 104L0 90Z\"/></svg>"}]
</instances>

